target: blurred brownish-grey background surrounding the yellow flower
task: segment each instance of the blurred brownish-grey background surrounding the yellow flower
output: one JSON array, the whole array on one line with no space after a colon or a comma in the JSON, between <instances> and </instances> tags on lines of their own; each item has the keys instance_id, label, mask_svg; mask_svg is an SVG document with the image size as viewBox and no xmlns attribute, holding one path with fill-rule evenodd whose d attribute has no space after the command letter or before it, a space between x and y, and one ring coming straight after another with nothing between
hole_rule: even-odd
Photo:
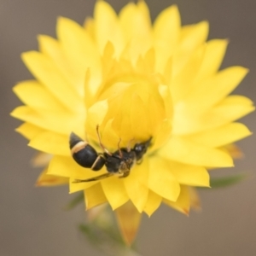
<instances>
[{"instance_id":1,"label":"blurred brownish-grey background surrounding the yellow flower","mask_svg":"<svg viewBox=\"0 0 256 256\"><path fill-rule=\"evenodd\" d=\"M109 0L119 11L128 1ZM37 35L55 37L57 16L84 22L92 15L93 0L0 0L0 255L103 255L90 246L77 226L84 221L84 206L64 211L67 187L35 188L40 170L30 165L34 151L15 133L20 121L9 113L20 101L12 87L32 76L20 61L20 53L38 49ZM250 73L235 91L256 102L256 1L254 0L148 0L152 19L177 3L183 25L210 21L209 38L229 38L223 67L241 65ZM242 119L256 131L255 113ZM138 251L151 255L215 256L255 255L256 252L256 137L239 147L245 154L232 170L217 174L250 172L238 185L201 190L202 212L189 218L162 206L151 218L144 216L137 236Z\"/></svg>"}]
</instances>

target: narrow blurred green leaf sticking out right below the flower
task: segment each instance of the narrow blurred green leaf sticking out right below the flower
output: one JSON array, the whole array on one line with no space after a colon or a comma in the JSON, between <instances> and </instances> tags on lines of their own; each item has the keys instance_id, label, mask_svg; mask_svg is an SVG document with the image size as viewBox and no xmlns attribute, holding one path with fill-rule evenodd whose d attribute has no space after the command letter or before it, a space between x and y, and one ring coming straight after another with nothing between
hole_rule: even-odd
<instances>
[{"instance_id":1,"label":"narrow blurred green leaf sticking out right below the flower","mask_svg":"<svg viewBox=\"0 0 256 256\"><path fill-rule=\"evenodd\" d=\"M210 185L212 189L224 188L236 183L240 183L248 177L247 173L239 173L236 175L230 175L226 177L211 178Z\"/></svg>"}]
</instances>

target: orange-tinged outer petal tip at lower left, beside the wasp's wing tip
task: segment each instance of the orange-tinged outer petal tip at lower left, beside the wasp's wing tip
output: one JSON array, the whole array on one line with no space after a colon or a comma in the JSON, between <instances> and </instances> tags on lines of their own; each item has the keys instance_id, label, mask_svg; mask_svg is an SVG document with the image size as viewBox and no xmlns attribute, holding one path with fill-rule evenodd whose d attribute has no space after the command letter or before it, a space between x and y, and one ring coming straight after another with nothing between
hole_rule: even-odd
<instances>
[{"instance_id":1,"label":"orange-tinged outer petal tip at lower left, beside the wasp's wing tip","mask_svg":"<svg viewBox=\"0 0 256 256\"><path fill-rule=\"evenodd\" d=\"M67 177L49 175L47 174L47 169L45 169L44 172L41 172L40 176L38 177L36 186L57 186L65 184L68 184Z\"/></svg>"}]
</instances>

